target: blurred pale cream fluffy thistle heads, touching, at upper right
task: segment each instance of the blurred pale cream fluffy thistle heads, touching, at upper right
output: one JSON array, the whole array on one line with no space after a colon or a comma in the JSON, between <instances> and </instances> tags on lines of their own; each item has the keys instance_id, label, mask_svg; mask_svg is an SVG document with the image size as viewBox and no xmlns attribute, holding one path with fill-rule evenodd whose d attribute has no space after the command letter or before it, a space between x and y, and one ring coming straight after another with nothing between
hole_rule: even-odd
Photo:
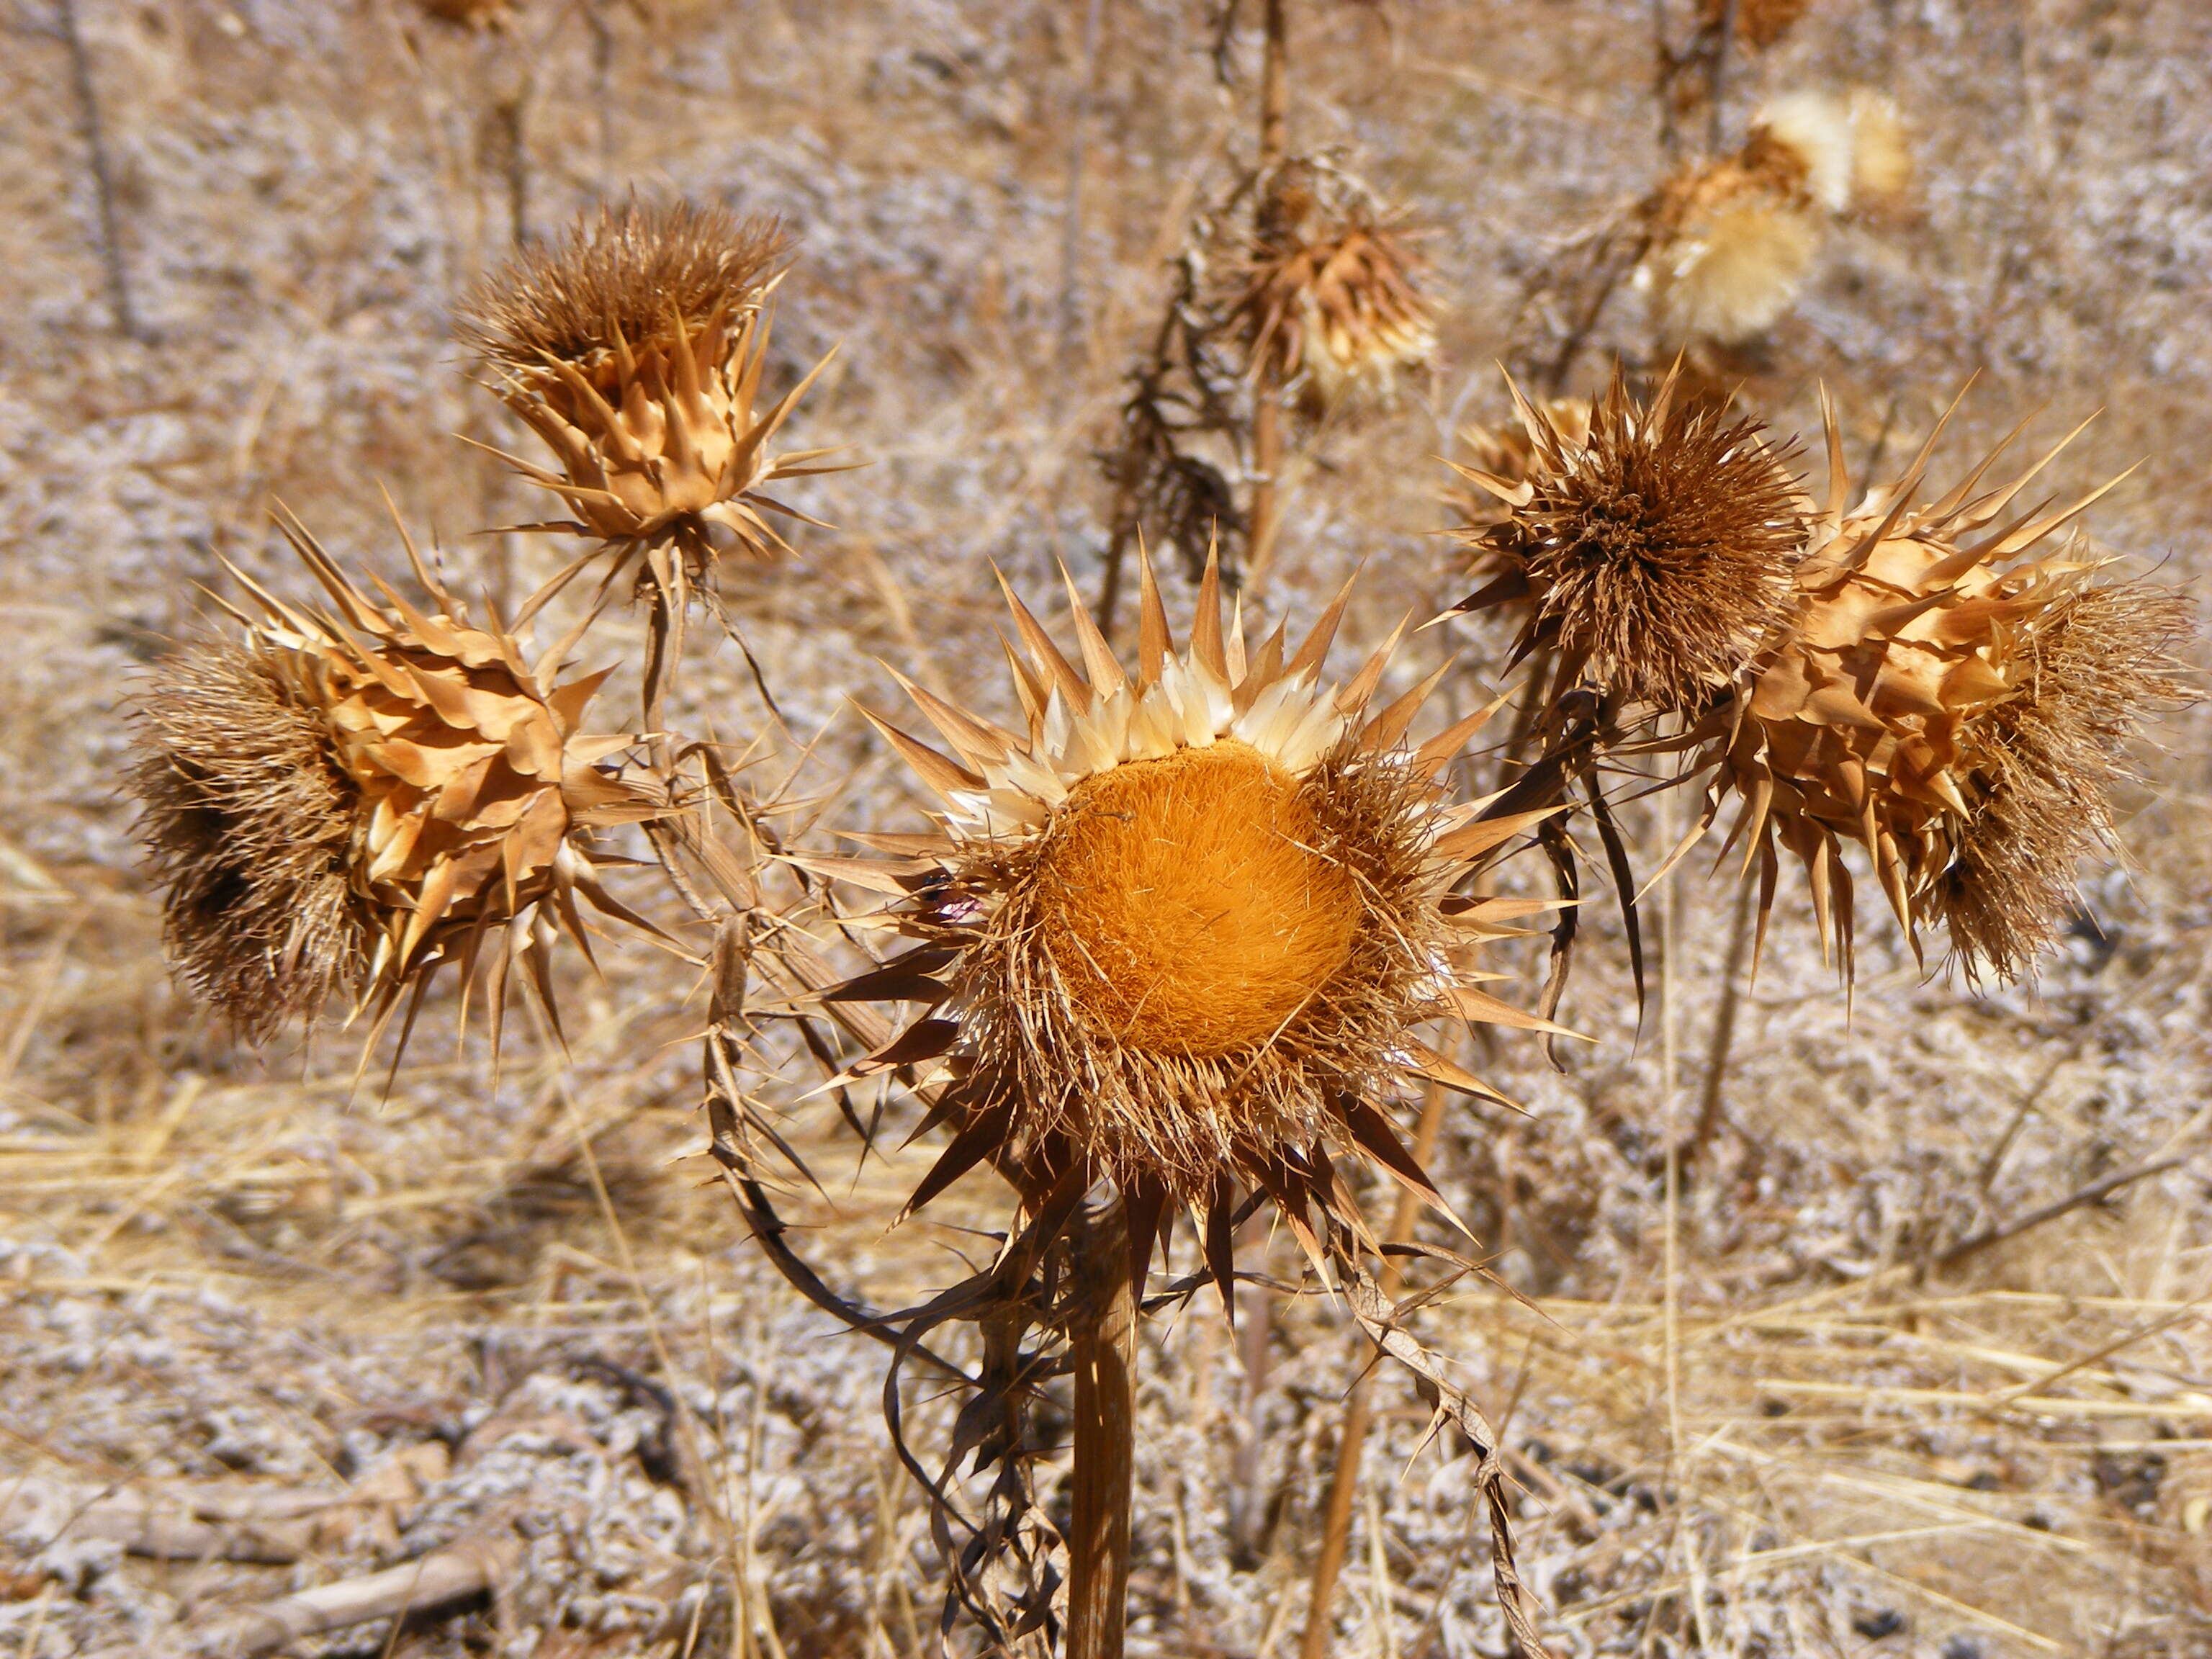
<instances>
[{"instance_id":1,"label":"blurred pale cream fluffy thistle heads, touching, at upper right","mask_svg":"<svg viewBox=\"0 0 2212 1659\"><path fill-rule=\"evenodd\" d=\"M1787 93L1743 148L1690 166L1646 208L1650 248L1637 285L1670 341L1734 345L1796 301L1825 217L1893 204L1911 181L1896 106L1865 88Z\"/></svg>"}]
</instances>

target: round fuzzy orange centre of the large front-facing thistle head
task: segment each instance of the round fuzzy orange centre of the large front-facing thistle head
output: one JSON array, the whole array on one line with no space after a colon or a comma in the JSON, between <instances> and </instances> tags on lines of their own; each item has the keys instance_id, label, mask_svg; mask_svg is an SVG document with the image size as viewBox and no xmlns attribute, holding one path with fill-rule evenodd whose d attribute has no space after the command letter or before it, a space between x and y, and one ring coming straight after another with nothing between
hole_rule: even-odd
<instances>
[{"instance_id":1,"label":"round fuzzy orange centre of the large front-facing thistle head","mask_svg":"<svg viewBox=\"0 0 2212 1659\"><path fill-rule=\"evenodd\" d=\"M1360 891L1298 781L1217 741L1068 794L1037 867L1042 945L1077 1009L1135 1048L1265 1042L1352 953Z\"/></svg>"}]
</instances>

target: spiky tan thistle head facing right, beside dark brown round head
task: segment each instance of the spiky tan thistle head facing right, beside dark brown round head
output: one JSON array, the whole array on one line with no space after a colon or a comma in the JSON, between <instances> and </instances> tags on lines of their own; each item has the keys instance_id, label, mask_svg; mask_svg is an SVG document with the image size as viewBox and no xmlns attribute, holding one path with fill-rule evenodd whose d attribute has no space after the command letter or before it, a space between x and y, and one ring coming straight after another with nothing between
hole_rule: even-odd
<instances>
[{"instance_id":1,"label":"spiky tan thistle head facing right, beside dark brown round head","mask_svg":"<svg viewBox=\"0 0 2212 1659\"><path fill-rule=\"evenodd\" d=\"M1717 719L1712 805L1745 803L1734 834L1761 863L1761 927L1781 845L1805 863L1823 947L1849 964L1838 852L1856 841L1916 951L1944 922L1969 975L2015 978L2073 902L2079 860L2110 838L2128 743L2174 697L2188 604L2104 577L2108 560L2079 538L2020 557L2110 489L2006 520L2064 442L1978 495L2000 445L1916 504L1940 431L1847 513L1829 416L1829 509L1796 573L1798 615L1741 710Z\"/></svg>"}]
</instances>

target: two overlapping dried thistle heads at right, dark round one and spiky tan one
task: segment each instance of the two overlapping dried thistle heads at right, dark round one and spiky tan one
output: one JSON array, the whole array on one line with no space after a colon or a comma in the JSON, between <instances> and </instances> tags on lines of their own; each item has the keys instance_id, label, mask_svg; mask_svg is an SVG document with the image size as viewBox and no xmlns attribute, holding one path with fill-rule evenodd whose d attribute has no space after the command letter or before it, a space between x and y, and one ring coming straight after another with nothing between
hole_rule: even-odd
<instances>
[{"instance_id":1,"label":"two overlapping dried thistle heads at right, dark round one and spiky tan one","mask_svg":"<svg viewBox=\"0 0 2212 1659\"><path fill-rule=\"evenodd\" d=\"M1498 507L1464 531L1491 580L1453 611L1524 606L1515 653L1555 650L1553 690L1597 692L1617 732L1679 717L1666 745L1714 774L1705 823L1743 801L1761 925L1787 847L1849 964L1851 841L1916 951L1947 925L1966 973L2017 978L2110 836L2128 743L2174 695L2185 602L2079 542L2022 562L2104 493L2000 522L2057 449L1975 493L1989 456L1916 504L1938 422L1898 484L1847 511L1829 416L1814 515L1756 420L1674 389L1641 400L1615 374L1582 431L1577 407L1515 392L1526 449L1495 442L1504 476L1458 469Z\"/></svg>"}]
</instances>

